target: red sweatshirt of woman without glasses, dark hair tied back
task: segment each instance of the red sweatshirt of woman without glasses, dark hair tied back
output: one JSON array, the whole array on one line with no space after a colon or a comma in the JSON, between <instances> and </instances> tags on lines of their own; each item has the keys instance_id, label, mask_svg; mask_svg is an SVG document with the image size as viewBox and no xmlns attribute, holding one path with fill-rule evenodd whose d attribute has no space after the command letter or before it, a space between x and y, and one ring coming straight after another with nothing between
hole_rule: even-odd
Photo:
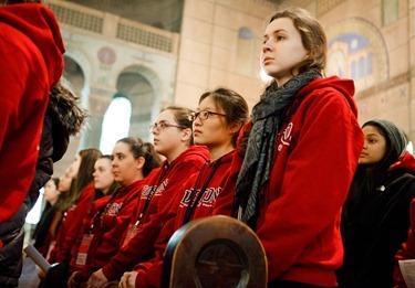
<instances>
[{"instance_id":1,"label":"red sweatshirt of woman without glasses, dark hair tied back","mask_svg":"<svg viewBox=\"0 0 415 288\"><path fill-rule=\"evenodd\" d=\"M156 169L158 170L158 169ZM136 181L118 190L92 218L90 227L83 234L92 234L87 250L86 265L75 275L77 282L86 281L90 276L108 263L122 245L123 234L132 218L134 206L146 179Z\"/></svg>"}]
</instances>

